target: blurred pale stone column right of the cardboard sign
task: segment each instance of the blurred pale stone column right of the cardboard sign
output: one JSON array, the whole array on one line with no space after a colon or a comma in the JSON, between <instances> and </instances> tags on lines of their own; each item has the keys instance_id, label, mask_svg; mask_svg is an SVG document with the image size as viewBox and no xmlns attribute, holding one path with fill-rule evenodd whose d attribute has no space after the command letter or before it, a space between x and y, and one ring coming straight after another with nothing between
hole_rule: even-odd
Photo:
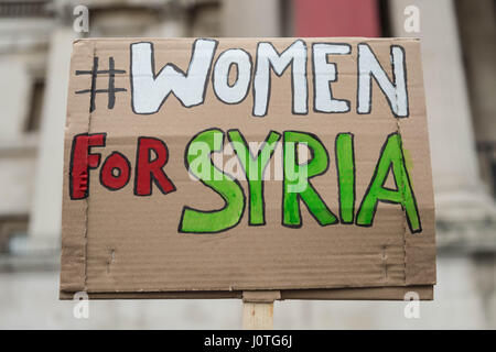
<instances>
[{"instance_id":1,"label":"blurred pale stone column right of the cardboard sign","mask_svg":"<svg viewBox=\"0 0 496 352\"><path fill-rule=\"evenodd\" d=\"M420 32L407 33L405 9L417 7ZM395 36L421 40L436 217L448 221L494 217L475 152L473 123L452 0L389 1Z\"/></svg>"}]
</instances>

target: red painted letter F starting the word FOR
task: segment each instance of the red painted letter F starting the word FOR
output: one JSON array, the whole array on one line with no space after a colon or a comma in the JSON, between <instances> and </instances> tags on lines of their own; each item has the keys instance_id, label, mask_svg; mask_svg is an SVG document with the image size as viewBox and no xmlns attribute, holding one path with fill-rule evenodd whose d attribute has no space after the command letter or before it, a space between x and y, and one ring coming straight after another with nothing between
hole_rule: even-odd
<instances>
[{"instance_id":1,"label":"red painted letter F starting the word FOR","mask_svg":"<svg viewBox=\"0 0 496 352\"><path fill-rule=\"evenodd\" d=\"M69 164L69 196L71 199L88 197L89 168L97 168L100 154L90 154L91 146L105 146L105 133L83 133L74 136Z\"/></svg>"}]
</instances>

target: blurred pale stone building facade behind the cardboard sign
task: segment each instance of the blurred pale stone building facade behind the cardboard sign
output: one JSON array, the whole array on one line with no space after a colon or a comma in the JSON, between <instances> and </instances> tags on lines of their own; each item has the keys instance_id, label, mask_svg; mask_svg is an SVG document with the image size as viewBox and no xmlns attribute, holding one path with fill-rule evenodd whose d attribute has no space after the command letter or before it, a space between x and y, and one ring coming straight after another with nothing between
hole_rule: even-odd
<instances>
[{"instance_id":1,"label":"blurred pale stone building facade behind the cardboard sign","mask_svg":"<svg viewBox=\"0 0 496 352\"><path fill-rule=\"evenodd\" d=\"M236 300L58 301L62 146L80 36L419 36L438 224L435 301L284 301L276 328L496 328L494 0L0 1L0 328L240 328ZM413 6L413 7L412 7ZM409 20L416 11L420 31ZM412 18L413 16L413 18ZM413 30L413 31L411 31Z\"/></svg>"}]
</instances>

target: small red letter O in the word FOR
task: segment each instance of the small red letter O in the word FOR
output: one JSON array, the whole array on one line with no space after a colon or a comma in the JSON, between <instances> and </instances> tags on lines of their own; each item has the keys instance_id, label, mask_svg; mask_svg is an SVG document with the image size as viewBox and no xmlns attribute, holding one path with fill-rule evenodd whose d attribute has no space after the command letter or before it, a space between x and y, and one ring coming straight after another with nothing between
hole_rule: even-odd
<instances>
[{"instance_id":1,"label":"small red letter O in the word FOR","mask_svg":"<svg viewBox=\"0 0 496 352\"><path fill-rule=\"evenodd\" d=\"M112 152L101 165L100 184L109 190L118 190L128 184L130 174L131 164L126 156L119 152Z\"/></svg>"}]
</instances>

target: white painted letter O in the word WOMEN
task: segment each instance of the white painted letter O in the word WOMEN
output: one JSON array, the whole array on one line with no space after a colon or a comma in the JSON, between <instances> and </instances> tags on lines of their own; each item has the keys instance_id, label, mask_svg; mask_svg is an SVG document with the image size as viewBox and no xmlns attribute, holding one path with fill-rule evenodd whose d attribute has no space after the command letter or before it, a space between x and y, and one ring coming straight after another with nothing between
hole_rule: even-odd
<instances>
[{"instance_id":1,"label":"white painted letter O in the word WOMEN","mask_svg":"<svg viewBox=\"0 0 496 352\"><path fill-rule=\"evenodd\" d=\"M236 65L236 81L229 85L229 70ZM222 53L214 67L214 92L226 103L238 103L248 95L251 80L250 55L240 48L230 48Z\"/></svg>"}]
</instances>

